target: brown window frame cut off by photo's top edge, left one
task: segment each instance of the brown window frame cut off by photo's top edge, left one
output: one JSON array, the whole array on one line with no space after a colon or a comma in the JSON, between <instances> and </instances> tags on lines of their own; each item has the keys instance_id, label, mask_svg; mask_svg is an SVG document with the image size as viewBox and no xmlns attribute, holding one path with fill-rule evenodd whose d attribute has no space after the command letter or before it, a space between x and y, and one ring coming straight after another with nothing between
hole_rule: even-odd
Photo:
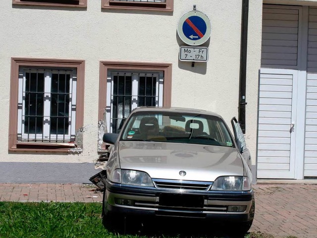
<instances>
[{"instance_id":1,"label":"brown window frame cut off by photo's top edge, left one","mask_svg":"<svg viewBox=\"0 0 317 238\"><path fill-rule=\"evenodd\" d=\"M77 2L73 4L72 2ZM63 3L64 2L64 3ZM66 2L66 3L65 3ZM87 7L87 0L12 0L13 5Z\"/></svg>"}]
</instances>

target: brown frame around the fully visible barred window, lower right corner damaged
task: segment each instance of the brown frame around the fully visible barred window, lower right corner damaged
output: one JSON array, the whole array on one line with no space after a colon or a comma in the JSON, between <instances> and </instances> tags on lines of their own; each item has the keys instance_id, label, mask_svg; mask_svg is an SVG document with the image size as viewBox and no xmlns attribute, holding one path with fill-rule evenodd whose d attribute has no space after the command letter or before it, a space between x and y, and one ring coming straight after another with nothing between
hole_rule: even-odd
<instances>
[{"instance_id":1,"label":"brown frame around the fully visible barred window, lower right corner damaged","mask_svg":"<svg viewBox=\"0 0 317 238\"><path fill-rule=\"evenodd\" d=\"M17 140L18 88L20 67L69 67L77 69L76 121L75 130L84 123L84 79L85 60L11 58L10 112L9 112L9 151L58 151L68 152L72 147L67 143L31 142L19 143Z\"/></svg>"}]
</instances>

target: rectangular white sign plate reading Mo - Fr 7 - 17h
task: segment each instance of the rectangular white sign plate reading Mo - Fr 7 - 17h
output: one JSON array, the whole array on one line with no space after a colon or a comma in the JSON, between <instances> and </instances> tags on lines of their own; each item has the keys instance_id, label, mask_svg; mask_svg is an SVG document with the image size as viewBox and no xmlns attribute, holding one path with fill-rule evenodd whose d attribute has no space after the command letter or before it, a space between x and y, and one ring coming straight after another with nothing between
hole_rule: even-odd
<instances>
[{"instance_id":1,"label":"rectangular white sign plate reading Mo - Fr 7 - 17h","mask_svg":"<svg viewBox=\"0 0 317 238\"><path fill-rule=\"evenodd\" d=\"M208 48L181 46L179 48L179 60L193 61L193 62L207 62Z\"/></svg>"}]
</instances>

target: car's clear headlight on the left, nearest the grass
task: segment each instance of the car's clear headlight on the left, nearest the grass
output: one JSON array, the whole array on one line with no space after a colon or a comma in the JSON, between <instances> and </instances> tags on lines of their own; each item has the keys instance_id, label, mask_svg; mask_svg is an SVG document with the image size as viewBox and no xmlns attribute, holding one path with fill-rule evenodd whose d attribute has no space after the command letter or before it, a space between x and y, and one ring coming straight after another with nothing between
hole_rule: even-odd
<instances>
[{"instance_id":1,"label":"car's clear headlight on the left, nearest the grass","mask_svg":"<svg viewBox=\"0 0 317 238\"><path fill-rule=\"evenodd\" d=\"M135 170L116 169L112 174L111 181L136 186L154 186L147 173Z\"/></svg>"}]
</instances>

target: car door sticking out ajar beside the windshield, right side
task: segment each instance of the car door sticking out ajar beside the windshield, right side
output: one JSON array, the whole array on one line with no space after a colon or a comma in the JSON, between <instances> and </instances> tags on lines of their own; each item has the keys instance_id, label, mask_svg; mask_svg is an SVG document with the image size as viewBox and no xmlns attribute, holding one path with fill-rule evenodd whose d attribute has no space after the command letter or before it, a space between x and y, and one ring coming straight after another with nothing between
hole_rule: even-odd
<instances>
[{"instance_id":1,"label":"car door sticking out ajar beside the windshield, right side","mask_svg":"<svg viewBox=\"0 0 317 238\"><path fill-rule=\"evenodd\" d=\"M233 128L234 138L238 146L238 149L251 170L251 154L249 149L247 148L246 140L244 138L240 124L235 117L231 119L231 125Z\"/></svg>"}]
</instances>

